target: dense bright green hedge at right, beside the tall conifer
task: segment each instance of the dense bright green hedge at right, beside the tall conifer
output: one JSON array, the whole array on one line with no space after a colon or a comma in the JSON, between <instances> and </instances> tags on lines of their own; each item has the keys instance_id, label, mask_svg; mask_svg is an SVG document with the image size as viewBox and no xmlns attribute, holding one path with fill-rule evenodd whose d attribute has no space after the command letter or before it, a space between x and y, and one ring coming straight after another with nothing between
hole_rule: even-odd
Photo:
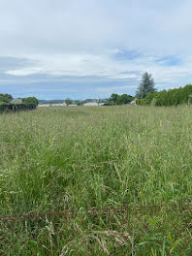
<instances>
[{"instance_id":1,"label":"dense bright green hedge at right, beside the tall conifer","mask_svg":"<svg viewBox=\"0 0 192 256\"><path fill-rule=\"evenodd\" d=\"M138 105L177 106L192 103L192 84L177 89L162 90L147 93L144 99L137 101Z\"/></svg>"}]
</instances>

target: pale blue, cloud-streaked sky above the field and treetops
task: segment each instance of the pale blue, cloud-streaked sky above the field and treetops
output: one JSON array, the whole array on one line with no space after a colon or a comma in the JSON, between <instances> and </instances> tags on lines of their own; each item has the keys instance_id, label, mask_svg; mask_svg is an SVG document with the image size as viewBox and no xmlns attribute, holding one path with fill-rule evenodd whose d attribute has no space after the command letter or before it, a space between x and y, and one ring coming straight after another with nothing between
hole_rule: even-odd
<instances>
[{"instance_id":1,"label":"pale blue, cloud-streaked sky above the field and treetops","mask_svg":"<svg viewBox=\"0 0 192 256\"><path fill-rule=\"evenodd\" d=\"M192 83L191 0L0 0L0 93L42 100Z\"/></svg>"}]
</instances>

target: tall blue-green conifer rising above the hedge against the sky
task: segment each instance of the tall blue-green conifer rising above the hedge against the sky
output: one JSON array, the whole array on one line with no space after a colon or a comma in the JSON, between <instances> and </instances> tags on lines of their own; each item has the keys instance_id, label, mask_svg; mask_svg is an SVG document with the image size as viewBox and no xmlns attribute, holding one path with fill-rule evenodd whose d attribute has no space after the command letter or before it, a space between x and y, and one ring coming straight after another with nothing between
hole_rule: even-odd
<instances>
[{"instance_id":1,"label":"tall blue-green conifer rising above the hedge against the sky","mask_svg":"<svg viewBox=\"0 0 192 256\"><path fill-rule=\"evenodd\" d=\"M142 78L142 82L140 83L138 90L136 92L136 97L138 99L144 99L148 92L153 92L156 90L154 88L154 85L155 83L152 78L152 75L145 72Z\"/></svg>"}]
</instances>

